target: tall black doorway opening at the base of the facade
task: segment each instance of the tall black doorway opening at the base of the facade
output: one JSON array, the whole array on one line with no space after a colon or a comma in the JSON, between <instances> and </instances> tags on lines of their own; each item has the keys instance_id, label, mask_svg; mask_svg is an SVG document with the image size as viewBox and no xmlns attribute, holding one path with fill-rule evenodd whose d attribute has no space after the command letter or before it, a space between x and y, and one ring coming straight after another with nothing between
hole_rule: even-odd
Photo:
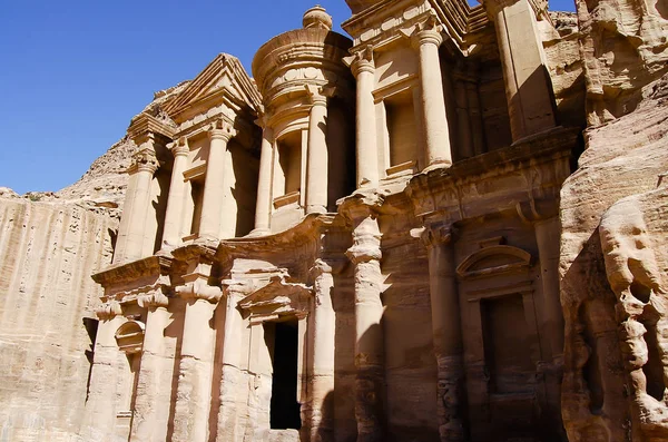
<instances>
[{"instance_id":1,"label":"tall black doorway opening at the base of the facade","mask_svg":"<svg viewBox=\"0 0 668 442\"><path fill-rule=\"evenodd\" d=\"M274 376L272 380L271 425L274 430L302 428L297 402L297 321L272 324L274 333ZM267 327L268 328L268 327ZM269 330L265 330L267 333Z\"/></svg>"}]
</instances>

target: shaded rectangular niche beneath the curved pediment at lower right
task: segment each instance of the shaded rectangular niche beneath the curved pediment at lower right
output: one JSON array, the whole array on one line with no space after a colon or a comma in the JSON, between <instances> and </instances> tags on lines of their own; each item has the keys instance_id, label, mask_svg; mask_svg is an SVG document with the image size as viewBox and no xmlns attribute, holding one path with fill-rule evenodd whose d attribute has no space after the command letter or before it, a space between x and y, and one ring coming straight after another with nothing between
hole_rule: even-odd
<instances>
[{"instance_id":1,"label":"shaded rectangular niche beneath the curved pediment at lower right","mask_svg":"<svg viewBox=\"0 0 668 442\"><path fill-rule=\"evenodd\" d=\"M480 310L490 393L532 392L536 365L530 348L534 336L527 324L522 295L482 299Z\"/></svg>"}]
</instances>

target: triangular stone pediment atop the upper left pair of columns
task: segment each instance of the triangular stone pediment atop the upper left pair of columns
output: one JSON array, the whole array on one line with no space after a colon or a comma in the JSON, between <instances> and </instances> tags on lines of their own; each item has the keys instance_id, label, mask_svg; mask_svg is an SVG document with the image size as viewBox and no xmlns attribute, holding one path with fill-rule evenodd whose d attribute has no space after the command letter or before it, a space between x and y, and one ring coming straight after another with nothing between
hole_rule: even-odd
<instances>
[{"instance_id":1,"label":"triangular stone pediment atop the upper left pair of columns","mask_svg":"<svg viewBox=\"0 0 668 442\"><path fill-rule=\"evenodd\" d=\"M240 61L230 55L218 55L178 97L165 107L165 111L175 120L186 109L199 104L225 97L238 107L247 107L257 112L262 97L254 81L248 77Z\"/></svg>"}]
</instances>

